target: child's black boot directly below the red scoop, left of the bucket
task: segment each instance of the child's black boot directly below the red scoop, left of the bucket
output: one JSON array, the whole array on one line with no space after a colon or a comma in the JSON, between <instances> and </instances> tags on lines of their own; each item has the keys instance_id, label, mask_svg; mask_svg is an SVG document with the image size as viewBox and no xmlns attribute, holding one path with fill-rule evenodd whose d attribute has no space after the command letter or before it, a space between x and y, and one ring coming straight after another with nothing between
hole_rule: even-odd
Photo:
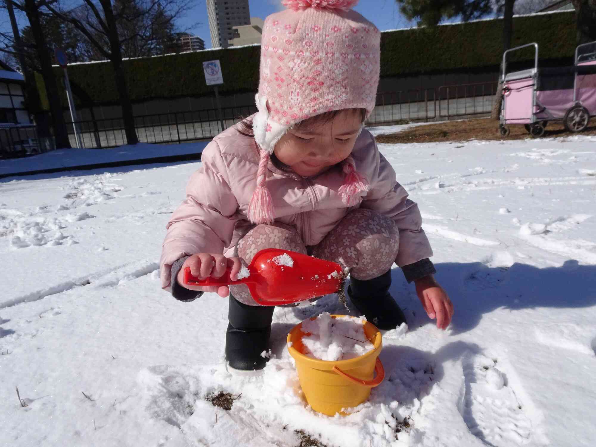
<instances>
[{"instance_id":1,"label":"child's black boot directly below the red scoop, left of the bucket","mask_svg":"<svg viewBox=\"0 0 596 447\"><path fill-rule=\"evenodd\" d=\"M275 306L247 306L231 294L228 305L228 330L225 334L225 358L234 370L262 370L268 358L271 321Z\"/></svg>"}]
</instances>

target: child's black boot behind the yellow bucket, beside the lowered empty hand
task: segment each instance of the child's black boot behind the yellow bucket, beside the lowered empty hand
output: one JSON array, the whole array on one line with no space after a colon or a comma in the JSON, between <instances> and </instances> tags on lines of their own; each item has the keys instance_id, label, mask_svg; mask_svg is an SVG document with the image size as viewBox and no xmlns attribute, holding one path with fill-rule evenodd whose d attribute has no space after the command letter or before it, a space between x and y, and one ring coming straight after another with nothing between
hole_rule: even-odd
<instances>
[{"instance_id":1,"label":"child's black boot behind the yellow bucket, beside the lowered empty hand","mask_svg":"<svg viewBox=\"0 0 596 447\"><path fill-rule=\"evenodd\" d=\"M350 277L347 294L356 309L367 320L383 330L395 329L406 321L403 311L389 293L391 270L372 280L356 280Z\"/></svg>"}]
</instances>

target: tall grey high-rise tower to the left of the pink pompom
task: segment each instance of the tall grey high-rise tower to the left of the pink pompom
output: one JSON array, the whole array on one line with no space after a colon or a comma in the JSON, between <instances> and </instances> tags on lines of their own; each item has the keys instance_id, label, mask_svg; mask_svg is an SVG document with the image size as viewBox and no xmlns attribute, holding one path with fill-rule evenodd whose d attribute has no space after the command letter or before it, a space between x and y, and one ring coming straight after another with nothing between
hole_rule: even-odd
<instances>
[{"instance_id":1,"label":"tall grey high-rise tower to the left of the pink pompom","mask_svg":"<svg viewBox=\"0 0 596 447\"><path fill-rule=\"evenodd\" d=\"M249 0L207 0L213 48L228 48L234 26L250 25Z\"/></svg>"}]
</instances>

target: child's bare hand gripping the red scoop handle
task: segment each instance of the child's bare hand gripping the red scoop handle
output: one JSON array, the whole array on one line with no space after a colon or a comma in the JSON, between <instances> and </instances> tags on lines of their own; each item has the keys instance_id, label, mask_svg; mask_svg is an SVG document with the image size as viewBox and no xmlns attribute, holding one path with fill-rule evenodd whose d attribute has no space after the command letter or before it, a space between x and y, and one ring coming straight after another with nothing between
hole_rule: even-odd
<instances>
[{"instance_id":1,"label":"child's bare hand gripping the red scoop handle","mask_svg":"<svg viewBox=\"0 0 596 447\"><path fill-rule=\"evenodd\" d=\"M186 287L190 290L197 290L203 292L215 292L221 297L229 295L229 288L227 285L188 285L184 284L184 269L190 267L190 272L194 277L200 280L206 280L207 278L221 278L226 269L231 269L230 278L232 281L238 279L238 273L240 272L241 263L239 257L225 257L223 254L216 253L197 253L193 256L188 257L184 261L182 268L178 272L178 284L182 287Z\"/></svg>"}]
</instances>

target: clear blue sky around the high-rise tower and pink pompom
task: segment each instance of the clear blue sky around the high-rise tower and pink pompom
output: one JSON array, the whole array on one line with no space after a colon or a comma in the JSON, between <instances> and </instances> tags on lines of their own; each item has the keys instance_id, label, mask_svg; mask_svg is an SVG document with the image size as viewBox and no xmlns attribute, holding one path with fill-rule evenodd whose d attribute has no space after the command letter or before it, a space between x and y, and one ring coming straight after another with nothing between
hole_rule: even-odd
<instances>
[{"instance_id":1,"label":"clear blue sky around the high-rise tower and pink pompom","mask_svg":"<svg viewBox=\"0 0 596 447\"><path fill-rule=\"evenodd\" d=\"M275 11L280 11L283 9L283 6L281 5L281 0L249 0L249 8L252 17L265 18L269 14L275 13ZM354 10L372 21L380 30L414 25L402 17L399 13L399 8L395 4L395 0L360 0ZM206 48L211 48L207 6L204 0L197 0L197 5L195 5L185 19L179 22L179 26L186 28L197 22L200 22L200 24L189 31L203 39Z\"/></svg>"}]
</instances>

